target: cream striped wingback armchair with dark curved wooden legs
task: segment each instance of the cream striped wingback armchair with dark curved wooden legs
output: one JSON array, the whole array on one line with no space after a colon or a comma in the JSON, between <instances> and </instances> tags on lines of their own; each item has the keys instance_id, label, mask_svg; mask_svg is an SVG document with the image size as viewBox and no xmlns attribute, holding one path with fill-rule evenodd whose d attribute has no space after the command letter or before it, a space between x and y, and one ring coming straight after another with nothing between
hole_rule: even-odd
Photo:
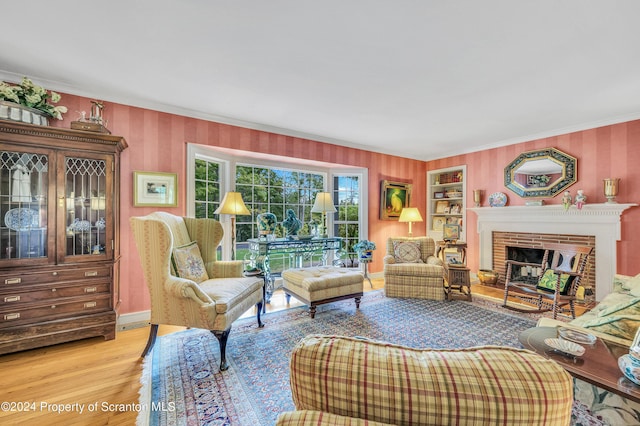
<instances>
[{"instance_id":1,"label":"cream striped wingback armchair with dark curved wooden legs","mask_svg":"<svg viewBox=\"0 0 640 426\"><path fill-rule=\"evenodd\" d=\"M220 370L226 370L231 324L257 305L263 326L262 279L244 277L242 261L217 260L223 236L217 220L156 212L130 222L151 296L151 331L142 356L153 347L159 324L204 328L218 339Z\"/></svg>"}]
</instances>

